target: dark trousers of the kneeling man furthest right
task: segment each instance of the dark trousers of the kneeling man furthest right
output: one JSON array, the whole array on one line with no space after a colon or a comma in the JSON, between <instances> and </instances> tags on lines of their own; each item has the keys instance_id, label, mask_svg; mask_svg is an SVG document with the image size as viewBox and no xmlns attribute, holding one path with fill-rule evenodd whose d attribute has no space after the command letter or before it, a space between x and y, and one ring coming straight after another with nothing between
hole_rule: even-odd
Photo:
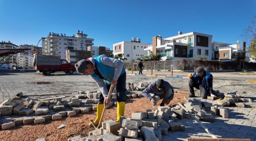
<instances>
[{"instance_id":1,"label":"dark trousers of the kneeling man furthest right","mask_svg":"<svg viewBox=\"0 0 256 141\"><path fill-rule=\"evenodd\" d=\"M200 96L203 99L207 99L207 95L209 92L206 92L205 89L202 86L200 86L198 83L196 83L194 79L189 79L188 86L189 86L191 95L195 95L195 92L194 92L194 87L195 87L196 89L200 90Z\"/></svg>"}]
</instances>

